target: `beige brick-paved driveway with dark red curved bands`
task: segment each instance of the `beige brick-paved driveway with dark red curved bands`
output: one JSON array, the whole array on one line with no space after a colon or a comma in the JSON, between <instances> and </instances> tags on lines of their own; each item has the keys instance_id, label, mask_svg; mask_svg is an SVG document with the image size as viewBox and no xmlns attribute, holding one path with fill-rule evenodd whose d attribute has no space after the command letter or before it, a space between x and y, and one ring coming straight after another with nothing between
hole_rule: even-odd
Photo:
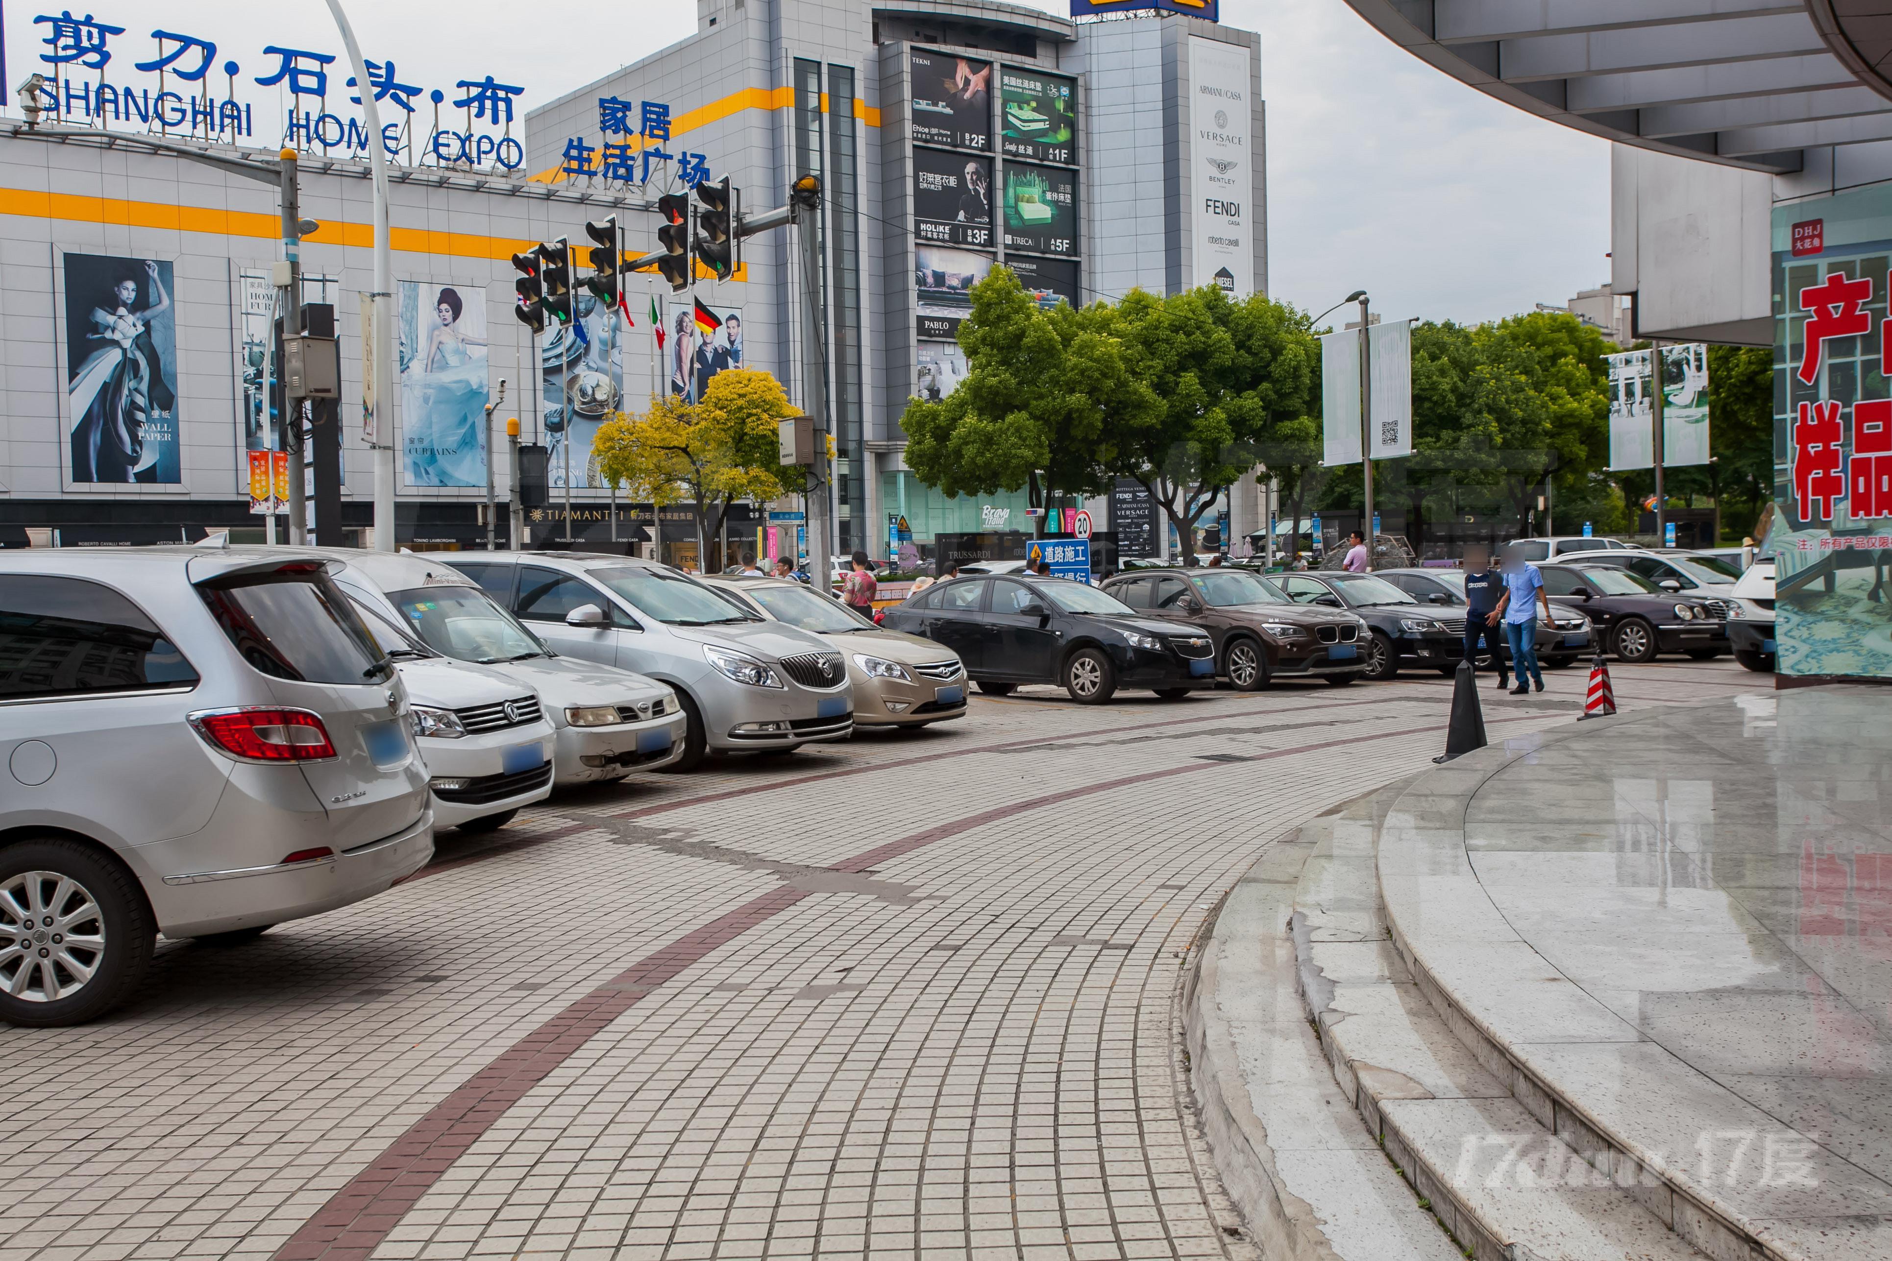
<instances>
[{"instance_id":1,"label":"beige brick-paved driveway with dark red curved bands","mask_svg":"<svg viewBox=\"0 0 1892 1261\"><path fill-rule=\"evenodd\" d=\"M1618 669L1625 709L1752 686ZM1568 686L1559 686L1568 681ZM1568 722L1584 673L1493 739ZM1264 838L1449 682L1107 707L560 794L388 894L0 1030L0 1261L1249 1257L1175 1000Z\"/></svg>"}]
</instances>

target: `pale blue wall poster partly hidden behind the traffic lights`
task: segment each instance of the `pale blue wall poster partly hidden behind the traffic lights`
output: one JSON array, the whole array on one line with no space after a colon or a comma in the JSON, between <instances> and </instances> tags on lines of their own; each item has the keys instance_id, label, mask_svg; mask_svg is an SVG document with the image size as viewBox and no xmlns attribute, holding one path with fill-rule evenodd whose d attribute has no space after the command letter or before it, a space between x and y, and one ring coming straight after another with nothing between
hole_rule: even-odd
<instances>
[{"instance_id":1,"label":"pale blue wall poster partly hidden behind the traffic lights","mask_svg":"<svg viewBox=\"0 0 1892 1261\"><path fill-rule=\"evenodd\" d=\"M573 490L604 490L592 439L598 425L624 406L624 314L588 289L573 293L573 310L577 325L549 323L539 342L545 476L551 486L564 488L569 463ZM569 461L566 440L571 442Z\"/></svg>"}]
</instances>

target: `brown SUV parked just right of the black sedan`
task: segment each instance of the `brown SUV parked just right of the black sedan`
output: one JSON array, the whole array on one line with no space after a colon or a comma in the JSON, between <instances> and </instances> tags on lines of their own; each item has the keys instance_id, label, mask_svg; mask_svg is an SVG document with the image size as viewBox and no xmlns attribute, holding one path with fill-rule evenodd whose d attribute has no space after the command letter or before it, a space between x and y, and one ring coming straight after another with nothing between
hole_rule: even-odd
<instances>
[{"instance_id":1,"label":"brown SUV parked just right of the black sedan","mask_svg":"<svg viewBox=\"0 0 1892 1261\"><path fill-rule=\"evenodd\" d=\"M1366 622L1345 609L1296 605L1245 569L1137 569L1103 590L1137 613L1205 628L1217 673L1237 692L1309 677L1343 686L1366 673Z\"/></svg>"}]
</instances>

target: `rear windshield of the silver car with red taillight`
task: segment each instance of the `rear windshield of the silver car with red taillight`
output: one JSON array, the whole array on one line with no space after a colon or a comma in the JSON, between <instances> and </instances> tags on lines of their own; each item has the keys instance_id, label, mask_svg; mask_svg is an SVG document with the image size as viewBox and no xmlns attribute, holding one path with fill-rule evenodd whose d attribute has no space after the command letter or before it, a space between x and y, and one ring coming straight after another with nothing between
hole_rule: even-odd
<instances>
[{"instance_id":1,"label":"rear windshield of the silver car with red taillight","mask_svg":"<svg viewBox=\"0 0 1892 1261\"><path fill-rule=\"evenodd\" d=\"M322 569L238 573L199 582L210 616L242 660L271 679L386 682L394 665Z\"/></svg>"}]
</instances>

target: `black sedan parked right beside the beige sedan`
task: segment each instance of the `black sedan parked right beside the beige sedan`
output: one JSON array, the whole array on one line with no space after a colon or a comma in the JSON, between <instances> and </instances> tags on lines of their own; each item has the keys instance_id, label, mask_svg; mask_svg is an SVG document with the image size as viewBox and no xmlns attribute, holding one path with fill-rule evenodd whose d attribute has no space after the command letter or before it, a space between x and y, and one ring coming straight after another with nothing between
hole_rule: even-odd
<instances>
[{"instance_id":1,"label":"black sedan parked right beside the beige sedan","mask_svg":"<svg viewBox=\"0 0 1892 1261\"><path fill-rule=\"evenodd\" d=\"M1101 705L1116 688L1173 698L1215 686L1209 631L1139 616L1069 579L1020 573L935 582L887 609L882 626L952 648L991 696L1054 682L1080 705Z\"/></svg>"}]
</instances>

